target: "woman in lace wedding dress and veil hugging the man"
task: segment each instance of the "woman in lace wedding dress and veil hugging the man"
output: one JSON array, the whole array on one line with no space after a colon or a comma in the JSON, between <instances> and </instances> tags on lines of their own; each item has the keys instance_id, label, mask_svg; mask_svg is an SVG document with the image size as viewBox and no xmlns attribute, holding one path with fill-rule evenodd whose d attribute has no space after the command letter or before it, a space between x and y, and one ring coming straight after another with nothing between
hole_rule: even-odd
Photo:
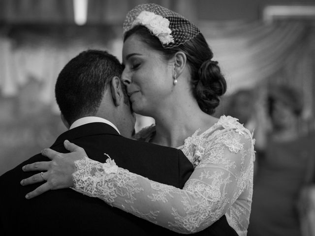
<instances>
[{"instance_id":1,"label":"woman in lace wedding dress and veil hugging the man","mask_svg":"<svg viewBox=\"0 0 315 236\"><path fill-rule=\"evenodd\" d=\"M178 189L130 173L110 158L105 164L91 160L83 148L65 142L70 153L43 150L53 165L42 168L47 171L45 187L27 198L71 187L179 233L201 231L225 214L238 235L246 236L253 139L238 119L211 116L226 82L204 36L186 18L157 4L141 4L129 11L124 31L122 80L134 112L156 121L135 138L180 148L194 172ZM34 163L24 170L33 167ZM54 168L64 173L56 175ZM28 179L23 181L29 184Z\"/></svg>"}]
</instances>

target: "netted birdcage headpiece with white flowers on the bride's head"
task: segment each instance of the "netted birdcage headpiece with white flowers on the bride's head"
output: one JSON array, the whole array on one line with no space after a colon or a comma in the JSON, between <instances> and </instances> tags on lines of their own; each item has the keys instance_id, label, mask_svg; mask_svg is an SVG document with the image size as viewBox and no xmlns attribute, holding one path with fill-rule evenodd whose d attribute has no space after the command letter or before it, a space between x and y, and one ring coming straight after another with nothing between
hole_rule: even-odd
<instances>
[{"instance_id":1,"label":"netted birdcage headpiece with white flowers on the bride's head","mask_svg":"<svg viewBox=\"0 0 315 236\"><path fill-rule=\"evenodd\" d=\"M141 20L139 20L139 16L143 15L142 13L144 12L147 12L148 15L155 15L156 17L152 21L156 21L156 23L158 24L162 21L162 18L163 20L164 18L167 19L169 22L167 28L170 29L170 32L167 33L164 29L154 29L153 27L156 26L156 23L150 24L150 19L145 19L146 16L141 17ZM152 17L154 18L154 16ZM200 30L194 24L189 22L188 19L174 11L171 11L155 3L137 5L127 13L123 25L124 33L126 33L126 31L128 31L129 29L132 29L135 25L144 25L146 28L148 28L152 34L156 35L159 38L164 48L177 47L185 43L186 41L194 38L198 33L200 33ZM165 26L164 24L162 25L163 27ZM159 34L159 32L162 33ZM160 37L160 35L162 34L163 36L167 35L168 38L165 39L165 37Z\"/></svg>"}]
</instances>

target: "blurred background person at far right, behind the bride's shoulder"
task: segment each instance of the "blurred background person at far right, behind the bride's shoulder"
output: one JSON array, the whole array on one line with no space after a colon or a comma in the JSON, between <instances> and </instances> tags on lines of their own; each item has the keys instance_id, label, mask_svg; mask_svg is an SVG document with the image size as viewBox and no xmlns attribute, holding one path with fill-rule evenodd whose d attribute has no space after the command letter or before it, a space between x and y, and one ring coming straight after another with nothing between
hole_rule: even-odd
<instances>
[{"instance_id":1,"label":"blurred background person at far right, behind the bride's shoulder","mask_svg":"<svg viewBox=\"0 0 315 236\"><path fill-rule=\"evenodd\" d=\"M298 202L314 171L315 135L299 130L303 104L294 88L279 85L267 94L270 126L260 129L264 145L255 146L258 167L248 236L301 236Z\"/></svg>"}]
</instances>

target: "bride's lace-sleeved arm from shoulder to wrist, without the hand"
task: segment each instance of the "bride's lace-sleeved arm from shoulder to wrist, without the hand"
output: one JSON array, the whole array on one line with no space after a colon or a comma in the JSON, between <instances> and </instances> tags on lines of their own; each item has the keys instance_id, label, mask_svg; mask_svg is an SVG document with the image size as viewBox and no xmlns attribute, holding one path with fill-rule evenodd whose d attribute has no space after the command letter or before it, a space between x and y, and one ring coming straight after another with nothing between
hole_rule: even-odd
<instances>
[{"instance_id":1,"label":"bride's lace-sleeved arm from shoulder to wrist, without the hand","mask_svg":"<svg viewBox=\"0 0 315 236\"><path fill-rule=\"evenodd\" d=\"M89 158L76 161L73 189L178 233L201 231L227 211L248 179L251 140L231 132L208 144L183 189Z\"/></svg>"}]
</instances>

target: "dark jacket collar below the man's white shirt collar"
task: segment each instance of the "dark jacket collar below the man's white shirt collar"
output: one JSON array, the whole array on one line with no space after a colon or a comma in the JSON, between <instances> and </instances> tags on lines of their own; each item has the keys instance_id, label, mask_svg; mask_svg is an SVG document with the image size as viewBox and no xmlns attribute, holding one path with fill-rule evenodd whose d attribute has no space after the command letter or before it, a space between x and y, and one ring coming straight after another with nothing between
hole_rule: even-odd
<instances>
[{"instance_id":1,"label":"dark jacket collar below the man's white shirt collar","mask_svg":"<svg viewBox=\"0 0 315 236\"><path fill-rule=\"evenodd\" d=\"M63 141L66 139L72 140L98 134L110 134L120 136L115 128L113 128L109 124L105 124L102 122L88 123L65 131L57 138L56 142L50 148L63 144Z\"/></svg>"}]
</instances>

